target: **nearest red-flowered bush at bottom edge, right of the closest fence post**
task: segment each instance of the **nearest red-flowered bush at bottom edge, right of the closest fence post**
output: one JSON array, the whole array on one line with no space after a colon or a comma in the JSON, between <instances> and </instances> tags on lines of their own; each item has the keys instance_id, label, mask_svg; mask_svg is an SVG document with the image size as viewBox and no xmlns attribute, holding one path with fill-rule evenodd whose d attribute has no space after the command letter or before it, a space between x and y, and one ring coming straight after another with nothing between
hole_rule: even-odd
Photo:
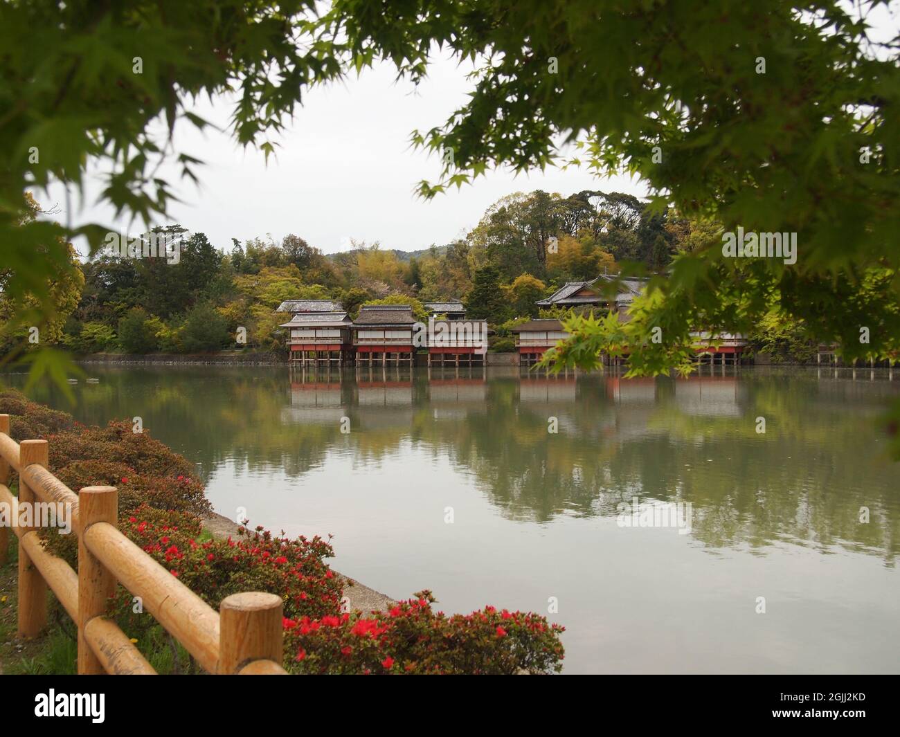
<instances>
[{"instance_id":1,"label":"nearest red-flowered bush at bottom edge, right of the closest fence post","mask_svg":"<svg viewBox=\"0 0 900 737\"><path fill-rule=\"evenodd\" d=\"M294 673L493 674L562 670L560 625L484 607L447 617L421 591L388 612L285 617L285 667ZM293 654L293 658L291 657Z\"/></svg>"}]
</instances>

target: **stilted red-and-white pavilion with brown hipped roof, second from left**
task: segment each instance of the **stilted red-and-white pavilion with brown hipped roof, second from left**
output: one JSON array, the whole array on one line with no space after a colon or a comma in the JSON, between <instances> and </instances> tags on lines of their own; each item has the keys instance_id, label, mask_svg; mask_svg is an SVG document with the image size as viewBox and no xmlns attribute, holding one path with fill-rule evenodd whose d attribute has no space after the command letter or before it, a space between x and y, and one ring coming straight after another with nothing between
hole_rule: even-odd
<instances>
[{"instance_id":1,"label":"stilted red-and-white pavilion with brown hipped roof, second from left","mask_svg":"<svg viewBox=\"0 0 900 737\"><path fill-rule=\"evenodd\" d=\"M408 304L364 304L353 322L356 363L388 361L413 364L413 328L416 319Z\"/></svg>"}]
</instances>

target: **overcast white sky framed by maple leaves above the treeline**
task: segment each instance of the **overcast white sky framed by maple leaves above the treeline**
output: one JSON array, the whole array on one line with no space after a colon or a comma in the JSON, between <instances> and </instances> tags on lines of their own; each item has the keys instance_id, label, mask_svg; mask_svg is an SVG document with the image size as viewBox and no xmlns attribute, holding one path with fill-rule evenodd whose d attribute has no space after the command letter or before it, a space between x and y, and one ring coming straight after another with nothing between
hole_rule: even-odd
<instances>
[{"instance_id":1,"label":"overcast white sky framed by maple leaves above the treeline","mask_svg":"<svg viewBox=\"0 0 900 737\"><path fill-rule=\"evenodd\" d=\"M175 150L206 165L197 170L199 191L191 182L178 185L184 203L172 204L170 221L205 232L215 247L226 249L232 237L244 241L271 233L280 240L295 233L326 253L346 249L350 238L415 250L443 245L472 229L491 203L517 191L645 193L643 185L628 179L601 181L583 169L551 169L518 177L497 171L458 192L420 201L413 188L421 179L437 180L440 161L437 155L412 150L410 132L442 124L465 102L472 85L465 72L453 61L437 60L417 89L395 83L392 67L383 65L346 83L316 89L284 135L275 138L281 148L268 166L261 153L239 148L227 130L201 133L189 124L179 126ZM231 108L226 100L215 105L204 101L194 112L227 129ZM177 183L175 168L163 174L170 184ZM94 206L97 192L94 186L83 208L73 200L72 220L124 229L128 223L113 220L112 209ZM56 218L66 221L65 194L59 188L51 194L38 194L39 201L45 207L58 204ZM136 224L129 230L142 229Z\"/></svg>"}]
</instances>

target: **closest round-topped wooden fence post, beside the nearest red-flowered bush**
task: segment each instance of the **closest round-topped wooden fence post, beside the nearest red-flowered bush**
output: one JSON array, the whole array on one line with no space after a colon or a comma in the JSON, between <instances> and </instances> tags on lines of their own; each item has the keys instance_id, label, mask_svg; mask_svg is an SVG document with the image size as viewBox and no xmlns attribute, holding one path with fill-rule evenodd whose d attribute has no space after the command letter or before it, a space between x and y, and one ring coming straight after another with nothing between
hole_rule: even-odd
<instances>
[{"instance_id":1,"label":"closest round-topped wooden fence post, beside the nearest red-flowered bush","mask_svg":"<svg viewBox=\"0 0 900 737\"><path fill-rule=\"evenodd\" d=\"M250 661L284 660L281 597L248 591L222 599L219 608L219 670L234 674Z\"/></svg>"}]
</instances>

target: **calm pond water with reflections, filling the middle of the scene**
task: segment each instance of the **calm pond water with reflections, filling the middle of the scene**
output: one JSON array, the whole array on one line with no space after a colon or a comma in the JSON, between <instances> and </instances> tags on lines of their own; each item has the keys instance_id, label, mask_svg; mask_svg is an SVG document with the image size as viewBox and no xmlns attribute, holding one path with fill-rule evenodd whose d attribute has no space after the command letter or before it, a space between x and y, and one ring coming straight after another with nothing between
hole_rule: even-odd
<instances>
[{"instance_id":1,"label":"calm pond water with reflections, filling the middle of the scene","mask_svg":"<svg viewBox=\"0 0 900 737\"><path fill-rule=\"evenodd\" d=\"M878 430L900 372L86 371L74 409L32 394L142 417L221 514L332 534L335 568L393 597L557 601L568 672L900 670L900 466ZM635 496L689 502L689 534L622 526Z\"/></svg>"}]
</instances>

